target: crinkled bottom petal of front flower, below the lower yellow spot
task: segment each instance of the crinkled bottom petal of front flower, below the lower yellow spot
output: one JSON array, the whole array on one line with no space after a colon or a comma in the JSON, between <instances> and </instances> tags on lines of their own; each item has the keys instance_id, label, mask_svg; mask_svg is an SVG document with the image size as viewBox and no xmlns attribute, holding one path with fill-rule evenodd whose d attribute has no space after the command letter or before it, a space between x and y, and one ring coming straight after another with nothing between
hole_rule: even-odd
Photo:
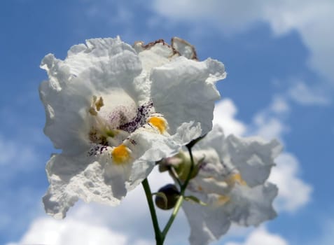
<instances>
[{"instance_id":1,"label":"crinkled bottom petal of front flower, below the lower yellow spot","mask_svg":"<svg viewBox=\"0 0 334 245\"><path fill-rule=\"evenodd\" d=\"M155 162L140 158L129 165L113 165L108 153L87 158L53 155L46 167L50 187L43 197L46 213L64 218L78 199L116 206L151 172Z\"/></svg>"}]
</instances>

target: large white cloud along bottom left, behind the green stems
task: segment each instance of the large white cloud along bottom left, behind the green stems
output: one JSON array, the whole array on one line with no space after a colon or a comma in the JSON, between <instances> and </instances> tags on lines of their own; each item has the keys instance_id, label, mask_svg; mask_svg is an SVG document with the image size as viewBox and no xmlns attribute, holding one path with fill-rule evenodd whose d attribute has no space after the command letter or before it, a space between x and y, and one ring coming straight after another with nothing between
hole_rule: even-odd
<instances>
[{"instance_id":1,"label":"large white cloud along bottom left, behind the green stems","mask_svg":"<svg viewBox=\"0 0 334 245\"><path fill-rule=\"evenodd\" d=\"M168 174L158 173L157 168L149 176L152 192L171 182ZM169 214L167 211L158 211L161 226L165 224ZM180 244L180 241L186 244L187 238L188 224L180 212L165 244ZM128 193L118 207L79 202L70 209L64 220L55 220L46 215L35 218L20 241L7 245L23 244L153 245L153 226L144 190L138 186Z\"/></svg>"}]
</instances>

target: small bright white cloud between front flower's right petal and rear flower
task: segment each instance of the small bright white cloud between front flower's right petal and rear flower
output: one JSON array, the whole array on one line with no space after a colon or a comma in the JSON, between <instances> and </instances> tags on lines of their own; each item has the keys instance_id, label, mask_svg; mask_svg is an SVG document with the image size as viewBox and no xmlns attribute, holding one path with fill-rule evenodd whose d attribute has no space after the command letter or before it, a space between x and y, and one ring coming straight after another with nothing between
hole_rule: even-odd
<instances>
[{"instance_id":1,"label":"small bright white cloud between front flower's right petal and rear flower","mask_svg":"<svg viewBox=\"0 0 334 245\"><path fill-rule=\"evenodd\" d=\"M214 108L214 124L221 125L224 133L242 135L246 131L246 126L239 120L235 119L237 106L231 99L222 99Z\"/></svg>"}]
</instances>

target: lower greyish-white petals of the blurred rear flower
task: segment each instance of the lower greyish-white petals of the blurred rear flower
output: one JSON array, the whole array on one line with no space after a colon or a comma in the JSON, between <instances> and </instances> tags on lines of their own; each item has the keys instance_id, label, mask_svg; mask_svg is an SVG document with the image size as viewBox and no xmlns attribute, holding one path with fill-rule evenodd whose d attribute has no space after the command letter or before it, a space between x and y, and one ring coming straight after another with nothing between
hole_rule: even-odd
<instances>
[{"instance_id":1,"label":"lower greyish-white petals of the blurred rear flower","mask_svg":"<svg viewBox=\"0 0 334 245\"><path fill-rule=\"evenodd\" d=\"M271 183L256 188L237 186L223 203L219 203L221 195L188 194L200 197L202 202L207 203L207 206L183 203L183 211L191 229L189 241L192 245L216 241L228 232L232 223L259 225L276 216L272 201L277 195L277 187Z\"/></svg>"}]
</instances>

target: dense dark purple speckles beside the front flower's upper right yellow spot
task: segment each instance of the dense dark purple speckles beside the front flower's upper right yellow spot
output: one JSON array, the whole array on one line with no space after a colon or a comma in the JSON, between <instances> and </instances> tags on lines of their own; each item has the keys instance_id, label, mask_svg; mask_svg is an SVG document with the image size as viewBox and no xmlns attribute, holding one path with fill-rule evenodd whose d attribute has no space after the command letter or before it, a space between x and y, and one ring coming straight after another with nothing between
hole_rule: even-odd
<instances>
[{"instance_id":1,"label":"dense dark purple speckles beside the front flower's upper right yellow spot","mask_svg":"<svg viewBox=\"0 0 334 245\"><path fill-rule=\"evenodd\" d=\"M134 132L137 128L141 127L146 123L146 119L151 114L153 102L147 102L137 109L137 116L135 116L130 122L120 125L118 130L124 130L128 133Z\"/></svg>"}]
</instances>

